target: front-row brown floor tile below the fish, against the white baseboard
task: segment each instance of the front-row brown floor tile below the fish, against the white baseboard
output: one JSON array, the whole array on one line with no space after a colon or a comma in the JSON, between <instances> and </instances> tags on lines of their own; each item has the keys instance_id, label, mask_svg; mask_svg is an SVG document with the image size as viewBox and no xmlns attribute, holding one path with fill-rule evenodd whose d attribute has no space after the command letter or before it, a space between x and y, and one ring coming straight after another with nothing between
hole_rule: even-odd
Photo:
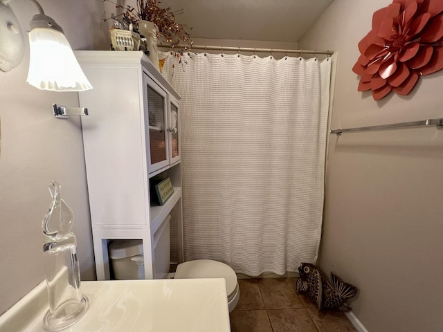
<instances>
[{"instance_id":1,"label":"front-row brown floor tile below the fish, against the white baseboard","mask_svg":"<svg viewBox=\"0 0 443 332\"><path fill-rule=\"evenodd\" d=\"M341 311L318 311L316 308L307 308L320 332L356 332L354 325Z\"/></svg>"}]
</instances>

